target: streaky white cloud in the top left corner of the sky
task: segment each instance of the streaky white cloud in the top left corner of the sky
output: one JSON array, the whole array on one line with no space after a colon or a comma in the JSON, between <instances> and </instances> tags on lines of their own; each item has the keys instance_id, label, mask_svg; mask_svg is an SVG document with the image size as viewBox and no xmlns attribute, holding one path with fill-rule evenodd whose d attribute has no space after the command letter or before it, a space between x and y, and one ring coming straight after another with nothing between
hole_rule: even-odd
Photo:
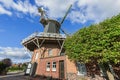
<instances>
[{"instance_id":1,"label":"streaky white cloud in the top left corner of the sky","mask_svg":"<svg viewBox=\"0 0 120 80\"><path fill-rule=\"evenodd\" d=\"M14 10L18 14L19 12L23 14L30 14L31 16L37 14L37 7L35 5L32 5L29 0L0 0L1 5L4 7L4 9ZM11 11L11 13L13 13ZM19 17L19 16L18 16Z\"/></svg>"}]
</instances>

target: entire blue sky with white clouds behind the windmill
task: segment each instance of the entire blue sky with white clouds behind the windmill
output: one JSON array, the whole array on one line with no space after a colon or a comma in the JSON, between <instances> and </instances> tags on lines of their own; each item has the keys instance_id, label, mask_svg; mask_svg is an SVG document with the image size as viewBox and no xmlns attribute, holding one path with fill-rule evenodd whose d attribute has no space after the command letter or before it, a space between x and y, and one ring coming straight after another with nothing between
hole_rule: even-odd
<instances>
[{"instance_id":1,"label":"entire blue sky with white clouds behind the windmill","mask_svg":"<svg viewBox=\"0 0 120 80\"><path fill-rule=\"evenodd\" d=\"M43 31L38 7L44 8L50 19L61 21L71 4L61 26L69 34L120 13L120 0L0 0L0 60L30 61L31 54L21 41Z\"/></svg>"}]
</instances>

